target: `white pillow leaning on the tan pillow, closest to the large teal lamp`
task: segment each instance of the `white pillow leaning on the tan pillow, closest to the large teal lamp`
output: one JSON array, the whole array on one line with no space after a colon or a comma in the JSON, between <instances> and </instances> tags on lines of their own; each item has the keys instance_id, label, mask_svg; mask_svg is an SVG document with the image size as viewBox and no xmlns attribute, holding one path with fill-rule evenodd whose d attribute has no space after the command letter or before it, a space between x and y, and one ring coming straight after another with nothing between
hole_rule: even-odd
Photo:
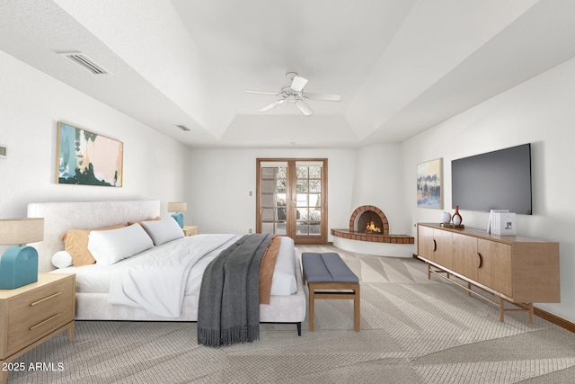
<instances>
[{"instance_id":1,"label":"white pillow leaning on the tan pillow, closest to the large teal lamp","mask_svg":"<svg viewBox=\"0 0 575 384\"><path fill-rule=\"evenodd\" d=\"M152 239L139 224L92 231L88 238L88 250L96 263L103 265L118 263L153 246Z\"/></svg>"}]
</instances>

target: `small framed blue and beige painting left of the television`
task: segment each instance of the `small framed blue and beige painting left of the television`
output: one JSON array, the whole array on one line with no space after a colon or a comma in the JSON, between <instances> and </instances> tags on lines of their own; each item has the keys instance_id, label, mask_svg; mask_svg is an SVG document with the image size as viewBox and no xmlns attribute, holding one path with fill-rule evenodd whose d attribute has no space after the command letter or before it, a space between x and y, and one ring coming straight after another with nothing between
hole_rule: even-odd
<instances>
[{"instance_id":1,"label":"small framed blue and beige painting left of the television","mask_svg":"<svg viewBox=\"0 0 575 384\"><path fill-rule=\"evenodd\" d=\"M417 165L417 206L443 209L443 159L438 158Z\"/></svg>"}]
</instances>

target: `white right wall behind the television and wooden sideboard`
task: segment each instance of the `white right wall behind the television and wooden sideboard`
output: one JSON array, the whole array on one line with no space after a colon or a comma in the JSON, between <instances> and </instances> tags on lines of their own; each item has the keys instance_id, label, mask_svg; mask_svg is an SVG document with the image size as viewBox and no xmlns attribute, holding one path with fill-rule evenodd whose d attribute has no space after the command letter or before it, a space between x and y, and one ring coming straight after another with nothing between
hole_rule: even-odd
<instances>
[{"instance_id":1,"label":"white right wall behind the television and wooden sideboard","mask_svg":"<svg viewBox=\"0 0 575 384\"><path fill-rule=\"evenodd\" d=\"M560 243L560 304L537 304L575 322L575 59L473 107L403 143L404 180L411 225L438 222L442 210L415 204L416 165L443 157L444 208L451 209L451 160L532 143L533 215L517 216L517 234ZM464 225L485 228L488 215L460 211ZM415 235L415 228L411 227Z\"/></svg>"}]
</instances>

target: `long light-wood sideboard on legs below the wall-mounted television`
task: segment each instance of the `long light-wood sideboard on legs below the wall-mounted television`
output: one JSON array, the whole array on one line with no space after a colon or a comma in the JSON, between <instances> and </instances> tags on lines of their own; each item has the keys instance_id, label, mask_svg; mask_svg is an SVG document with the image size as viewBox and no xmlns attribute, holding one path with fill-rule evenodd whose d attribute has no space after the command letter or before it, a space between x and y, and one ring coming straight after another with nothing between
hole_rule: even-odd
<instances>
[{"instance_id":1,"label":"long light-wood sideboard on legs below the wall-mounted television","mask_svg":"<svg viewBox=\"0 0 575 384\"><path fill-rule=\"evenodd\" d=\"M428 263L428 278L435 273L469 294L477 294L473 285L499 299L477 294L500 307L500 321L506 311L519 310L528 312L531 322L534 302L561 301L559 243L419 223L417 248L418 258ZM518 308L504 308L505 301Z\"/></svg>"}]
</instances>

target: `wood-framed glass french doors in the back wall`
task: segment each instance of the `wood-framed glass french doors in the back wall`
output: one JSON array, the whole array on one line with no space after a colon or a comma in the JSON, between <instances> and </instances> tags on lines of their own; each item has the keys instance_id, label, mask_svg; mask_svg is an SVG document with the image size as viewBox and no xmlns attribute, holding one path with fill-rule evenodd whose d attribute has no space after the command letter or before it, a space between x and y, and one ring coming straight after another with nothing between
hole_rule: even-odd
<instances>
[{"instance_id":1,"label":"wood-framed glass french doors in the back wall","mask_svg":"<svg viewBox=\"0 0 575 384\"><path fill-rule=\"evenodd\" d=\"M326 244L327 159L257 159L256 232Z\"/></svg>"}]
</instances>

